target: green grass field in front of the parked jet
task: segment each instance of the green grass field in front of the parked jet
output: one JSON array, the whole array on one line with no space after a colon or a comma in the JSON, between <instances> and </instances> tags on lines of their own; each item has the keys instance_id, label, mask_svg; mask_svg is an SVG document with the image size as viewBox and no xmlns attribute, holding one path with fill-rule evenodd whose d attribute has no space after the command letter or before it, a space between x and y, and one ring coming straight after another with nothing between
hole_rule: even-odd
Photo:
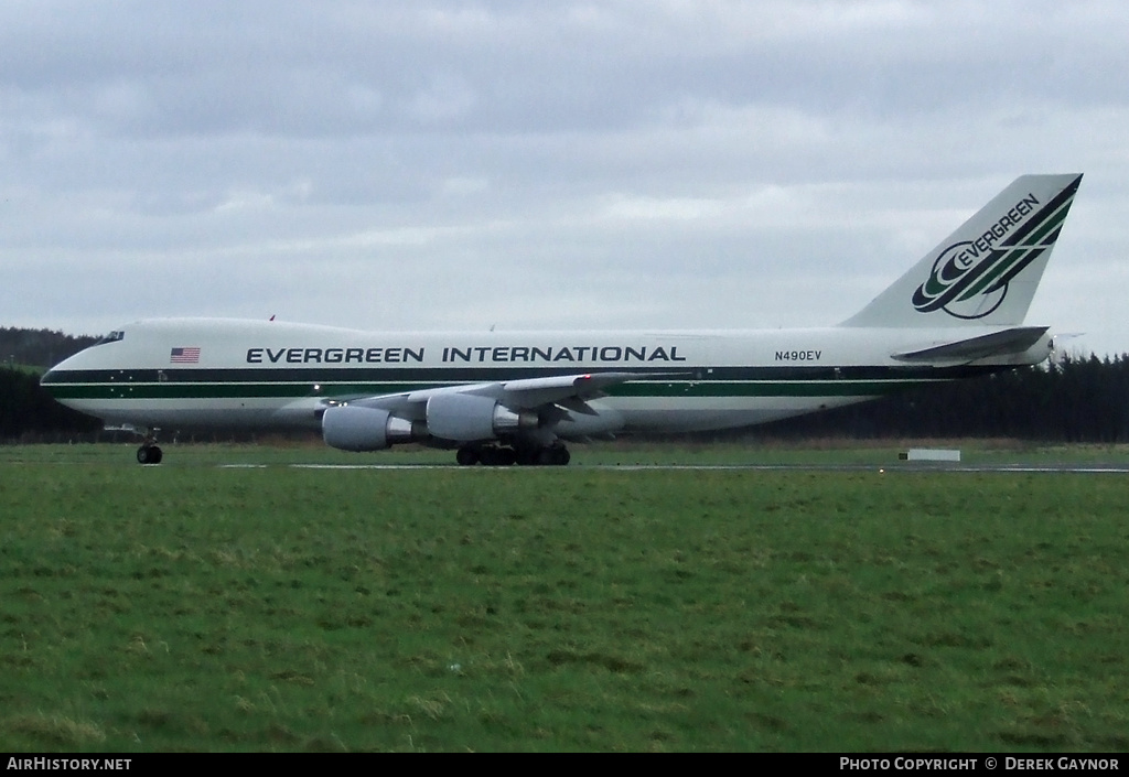
<instances>
[{"instance_id":1,"label":"green grass field in front of the parked jet","mask_svg":"<svg viewBox=\"0 0 1129 777\"><path fill-rule=\"evenodd\" d=\"M1129 749L1126 475L574 453L0 448L0 750Z\"/></svg>"}]
</instances>

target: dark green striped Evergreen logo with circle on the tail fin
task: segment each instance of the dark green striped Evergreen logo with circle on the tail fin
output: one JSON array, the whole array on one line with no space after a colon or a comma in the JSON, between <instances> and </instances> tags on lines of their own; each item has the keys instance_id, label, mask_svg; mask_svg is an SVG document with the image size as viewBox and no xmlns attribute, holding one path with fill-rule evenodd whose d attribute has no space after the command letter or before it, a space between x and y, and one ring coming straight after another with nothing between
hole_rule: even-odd
<instances>
[{"instance_id":1,"label":"dark green striped Evergreen logo with circle on the tail fin","mask_svg":"<svg viewBox=\"0 0 1129 777\"><path fill-rule=\"evenodd\" d=\"M990 315L1007 296L1007 285L1054 245L1077 184L1045 203L1027 193L980 237L943 250L929 278L913 291L914 309L966 320Z\"/></svg>"}]
</instances>

